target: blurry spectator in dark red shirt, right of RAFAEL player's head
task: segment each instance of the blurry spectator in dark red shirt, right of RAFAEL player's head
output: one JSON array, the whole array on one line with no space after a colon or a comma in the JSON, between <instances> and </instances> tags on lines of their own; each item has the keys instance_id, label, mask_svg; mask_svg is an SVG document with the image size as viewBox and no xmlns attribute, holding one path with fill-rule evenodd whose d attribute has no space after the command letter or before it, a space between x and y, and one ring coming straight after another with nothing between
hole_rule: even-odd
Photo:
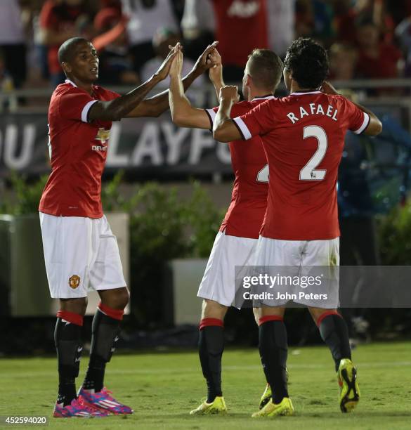
<instances>
[{"instance_id":1,"label":"blurry spectator in dark red shirt, right of RAFAEL player's head","mask_svg":"<svg viewBox=\"0 0 411 430\"><path fill-rule=\"evenodd\" d=\"M395 78L400 72L402 54L393 44L380 42L377 25L365 18L358 23L357 76L363 78Z\"/></svg>"}]
</instances>

